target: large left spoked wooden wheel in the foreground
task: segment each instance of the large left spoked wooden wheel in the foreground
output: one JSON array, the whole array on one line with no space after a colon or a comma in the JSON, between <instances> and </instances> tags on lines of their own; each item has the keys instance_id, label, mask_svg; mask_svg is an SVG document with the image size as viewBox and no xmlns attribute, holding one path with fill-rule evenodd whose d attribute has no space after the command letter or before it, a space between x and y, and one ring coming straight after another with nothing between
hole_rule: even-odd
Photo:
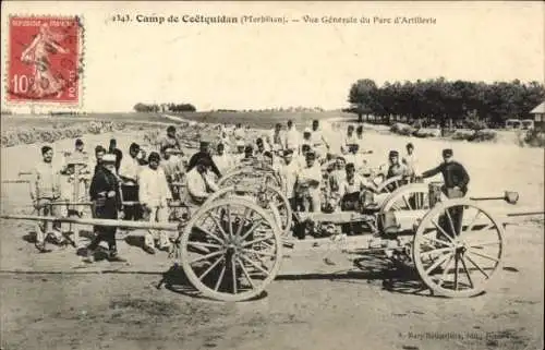
<instances>
[{"instance_id":1,"label":"large left spoked wooden wheel in the foreground","mask_svg":"<svg viewBox=\"0 0 545 350\"><path fill-rule=\"evenodd\" d=\"M280 267L282 244L275 220L241 198L215 201L187 222L181 263L205 297L243 301L258 295Z\"/></svg>"}]
</instances>

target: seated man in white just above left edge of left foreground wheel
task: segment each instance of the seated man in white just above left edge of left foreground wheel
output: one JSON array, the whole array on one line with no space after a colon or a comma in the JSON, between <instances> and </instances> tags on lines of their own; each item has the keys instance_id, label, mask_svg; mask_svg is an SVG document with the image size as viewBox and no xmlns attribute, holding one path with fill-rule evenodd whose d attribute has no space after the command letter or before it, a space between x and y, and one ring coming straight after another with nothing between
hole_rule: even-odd
<instances>
[{"instance_id":1,"label":"seated man in white just above left edge of left foreground wheel","mask_svg":"<svg viewBox=\"0 0 545 350\"><path fill-rule=\"evenodd\" d=\"M218 186L213 180L211 161L208 158L198 159L195 168L191 169L186 176L189 205L194 207L202 205L208 196L218 191Z\"/></svg>"}]
</instances>

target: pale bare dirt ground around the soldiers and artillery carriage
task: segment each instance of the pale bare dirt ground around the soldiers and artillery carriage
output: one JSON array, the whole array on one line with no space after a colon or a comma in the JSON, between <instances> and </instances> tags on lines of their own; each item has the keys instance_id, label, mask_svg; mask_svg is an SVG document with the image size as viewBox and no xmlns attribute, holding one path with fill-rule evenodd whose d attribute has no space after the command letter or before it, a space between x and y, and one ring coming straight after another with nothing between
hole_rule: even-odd
<instances>
[{"instance_id":1,"label":"pale bare dirt ground around the soldiers and artillery carriage","mask_svg":"<svg viewBox=\"0 0 545 350\"><path fill-rule=\"evenodd\" d=\"M110 135L86 137L106 144ZM118 135L126 149L132 135ZM373 164L409 137L368 134ZM470 195L517 190L522 207L543 210L543 149L411 140L421 166L450 146L471 176ZM68 148L62 141L56 148ZM3 179L39 158L36 146L3 148ZM28 204L24 185L2 185L2 213ZM507 210L511 207L507 206ZM510 226L504 267L485 294L433 297L417 276L376 254L284 250L280 275L257 300L201 298L183 274L164 275L166 253L119 243L130 262L82 267L73 248L38 254L32 225L2 220L2 349L543 349L543 220ZM82 244L85 238L82 239ZM157 289L161 279L168 285Z\"/></svg>"}]
</instances>

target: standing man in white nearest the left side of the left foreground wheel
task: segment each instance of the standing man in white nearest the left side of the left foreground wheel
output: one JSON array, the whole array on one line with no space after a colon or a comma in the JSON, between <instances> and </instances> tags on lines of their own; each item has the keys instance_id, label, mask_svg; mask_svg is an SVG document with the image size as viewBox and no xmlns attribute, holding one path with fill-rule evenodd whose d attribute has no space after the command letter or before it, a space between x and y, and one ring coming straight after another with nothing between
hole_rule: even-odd
<instances>
[{"instance_id":1,"label":"standing man in white nearest the left side of the left foreground wheel","mask_svg":"<svg viewBox=\"0 0 545 350\"><path fill-rule=\"evenodd\" d=\"M168 201L172 200L170 189L167 183L165 171L159 168L160 156L152 152L148 158L149 166L140 173L138 197L142 204L144 216L150 222L168 221ZM158 234L157 234L158 233ZM164 230L148 230L144 238L144 251L155 254L154 240L158 236L158 249L168 251L171 243L167 232Z\"/></svg>"}]
</instances>

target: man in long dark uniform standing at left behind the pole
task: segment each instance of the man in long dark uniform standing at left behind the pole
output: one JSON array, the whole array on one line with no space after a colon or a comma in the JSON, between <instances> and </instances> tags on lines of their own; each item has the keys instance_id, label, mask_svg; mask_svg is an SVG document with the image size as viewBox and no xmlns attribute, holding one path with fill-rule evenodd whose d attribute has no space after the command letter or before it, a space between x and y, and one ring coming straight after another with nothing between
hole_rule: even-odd
<instances>
[{"instance_id":1,"label":"man in long dark uniform standing at left behind the pole","mask_svg":"<svg viewBox=\"0 0 545 350\"><path fill-rule=\"evenodd\" d=\"M93 216L99 219L118 219L122 208L119 191L119 180L116 176L116 155L107 154L98 166L90 182L89 195L94 202ZM110 262L125 262L118 255L116 245L117 227L95 226L96 238L87 246L87 261L92 262L94 251L101 241L108 243L108 260Z\"/></svg>"}]
</instances>

